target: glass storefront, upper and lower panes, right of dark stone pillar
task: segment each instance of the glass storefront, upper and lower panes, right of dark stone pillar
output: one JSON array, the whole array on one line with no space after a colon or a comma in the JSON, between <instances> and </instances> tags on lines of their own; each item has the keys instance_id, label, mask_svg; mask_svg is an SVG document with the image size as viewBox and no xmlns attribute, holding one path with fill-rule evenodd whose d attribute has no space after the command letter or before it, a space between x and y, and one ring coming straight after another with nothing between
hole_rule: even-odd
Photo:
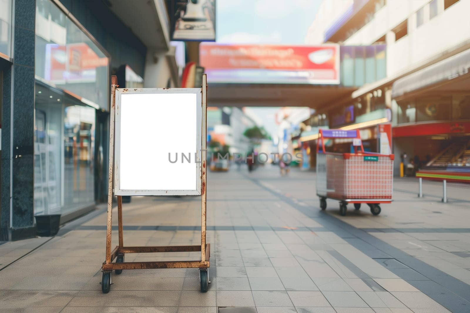
<instances>
[{"instance_id":1,"label":"glass storefront, upper and lower panes, right of dark stone pillar","mask_svg":"<svg viewBox=\"0 0 470 313\"><path fill-rule=\"evenodd\" d=\"M106 128L98 115L108 111L110 60L51 0L36 8L34 215L64 222L94 208L95 177L104 175L97 133Z\"/></svg>"}]
</instances>

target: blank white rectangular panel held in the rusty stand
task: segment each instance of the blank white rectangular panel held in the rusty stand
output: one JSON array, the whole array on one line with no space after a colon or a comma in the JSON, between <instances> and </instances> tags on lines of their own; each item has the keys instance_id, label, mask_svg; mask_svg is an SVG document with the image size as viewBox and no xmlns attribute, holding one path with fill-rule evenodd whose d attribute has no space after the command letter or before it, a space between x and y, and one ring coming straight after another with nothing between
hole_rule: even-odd
<instances>
[{"instance_id":1,"label":"blank white rectangular panel held in the rusty stand","mask_svg":"<svg viewBox=\"0 0 470 313\"><path fill-rule=\"evenodd\" d=\"M200 89L133 92L116 94L115 194L200 195Z\"/></svg>"}]
</instances>

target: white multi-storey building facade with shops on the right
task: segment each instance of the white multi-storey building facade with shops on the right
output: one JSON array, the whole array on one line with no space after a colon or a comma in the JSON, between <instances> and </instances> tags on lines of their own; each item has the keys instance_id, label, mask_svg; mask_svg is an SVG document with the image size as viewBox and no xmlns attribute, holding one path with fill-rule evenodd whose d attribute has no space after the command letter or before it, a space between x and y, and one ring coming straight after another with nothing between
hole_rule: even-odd
<instances>
[{"instance_id":1,"label":"white multi-storey building facade with shops on the right","mask_svg":"<svg viewBox=\"0 0 470 313\"><path fill-rule=\"evenodd\" d=\"M412 158L424 166L438 162L450 146L459 146L444 163L468 163L464 152L470 141L469 9L469 0L345 4L344 13L326 28L324 42L340 43L342 48L383 45L386 72L318 114L328 116L330 128L369 129L364 133L372 151L377 145L376 125L391 122L396 175L403 153L405 162ZM346 116L354 118L347 122Z\"/></svg>"}]
</instances>

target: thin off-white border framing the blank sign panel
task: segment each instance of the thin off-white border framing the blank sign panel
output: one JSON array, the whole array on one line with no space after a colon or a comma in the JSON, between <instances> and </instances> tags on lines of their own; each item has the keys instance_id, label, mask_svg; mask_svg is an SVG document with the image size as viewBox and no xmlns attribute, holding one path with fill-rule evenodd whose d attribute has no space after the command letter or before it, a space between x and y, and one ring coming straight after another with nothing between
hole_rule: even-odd
<instances>
[{"instance_id":1,"label":"thin off-white border framing the blank sign panel","mask_svg":"<svg viewBox=\"0 0 470 313\"><path fill-rule=\"evenodd\" d=\"M194 93L196 94L196 190L129 190L120 189L120 148L121 148L121 95L123 94L168 94L168 93ZM158 104L157 104L158 105ZM177 122L177 121L175 121ZM116 88L115 110L115 157L114 157L114 194L116 196L200 196L201 195L201 137L202 128L206 122L202 121L202 90L201 88Z\"/></svg>"}]
</instances>

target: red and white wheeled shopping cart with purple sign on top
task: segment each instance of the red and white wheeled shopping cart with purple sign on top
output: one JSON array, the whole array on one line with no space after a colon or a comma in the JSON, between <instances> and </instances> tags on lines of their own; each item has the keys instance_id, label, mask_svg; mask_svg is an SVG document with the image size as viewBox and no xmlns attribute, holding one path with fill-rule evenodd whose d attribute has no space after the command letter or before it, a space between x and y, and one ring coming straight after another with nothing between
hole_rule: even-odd
<instances>
[{"instance_id":1,"label":"red and white wheeled shopping cart with purple sign on top","mask_svg":"<svg viewBox=\"0 0 470 313\"><path fill-rule=\"evenodd\" d=\"M326 152L326 138L352 138L354 153ZM339 201L343 216L348 203L354 204L356 210L366 203L372 214L380 214L380 204L392 202L393 159L393 154L365 153L359 130L320 130L317 195L321 209L326 209L326 199L330 198Z\"/></svg>"}]
</instances>

